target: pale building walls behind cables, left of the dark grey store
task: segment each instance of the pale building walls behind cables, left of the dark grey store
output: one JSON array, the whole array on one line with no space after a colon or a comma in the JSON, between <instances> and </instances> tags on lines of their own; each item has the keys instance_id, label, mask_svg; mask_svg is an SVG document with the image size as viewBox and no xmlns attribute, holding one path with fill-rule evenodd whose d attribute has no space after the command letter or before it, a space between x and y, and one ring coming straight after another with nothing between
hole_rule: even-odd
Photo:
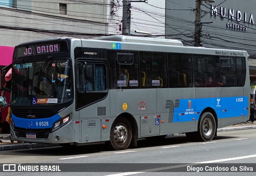
<instances>
[{"instance_id":1,"label":"pale building walls behind cables, left of the dark grey store","mask_svg":"<svg viewBox=\"0 0 256 176\"><path fill-rule=\"evenodd\" d=\"M121 0L0 0L0 45L55 37L94 38L122 34ZM131 2L135 30L165 34L165 0Z\"/></svg>"}]
</instances>

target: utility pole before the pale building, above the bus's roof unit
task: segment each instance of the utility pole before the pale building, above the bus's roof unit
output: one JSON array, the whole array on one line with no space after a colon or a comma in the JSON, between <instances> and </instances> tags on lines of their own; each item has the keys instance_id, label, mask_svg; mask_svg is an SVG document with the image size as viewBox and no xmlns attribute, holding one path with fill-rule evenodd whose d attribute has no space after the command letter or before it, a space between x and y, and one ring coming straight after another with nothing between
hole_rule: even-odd
<instances>
[{"instance_id":1,"label":"utility pole before the pale building, above the bus's roof unit","mask_svg":"<svg viewBox=\"0 0 256 176\"><path fill-rule=\"evenodd\" d=\"M130 0L123 0L123 26L122 35L130 36L131 28L131 10Z\"/></svg>"}]
</instances>

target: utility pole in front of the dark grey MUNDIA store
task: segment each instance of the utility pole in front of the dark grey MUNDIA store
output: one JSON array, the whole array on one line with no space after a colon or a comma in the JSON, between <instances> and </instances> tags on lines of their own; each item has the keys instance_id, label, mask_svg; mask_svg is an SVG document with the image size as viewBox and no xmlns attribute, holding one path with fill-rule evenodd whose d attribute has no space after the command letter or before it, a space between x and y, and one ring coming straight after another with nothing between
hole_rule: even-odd
<instances>
[{"instance_id":1,"label":"utility pole in front of the dark grey MUNDIA store","mask_svg":"<svg viewBox=\"0 0 256 176\"><path fill-rule=\"evenodd\" d=\"M201 0L196 0L196 20L195 20L195 35L194 35L194 46L202 46L201 44Z\"/></svg>"}]
</instances>

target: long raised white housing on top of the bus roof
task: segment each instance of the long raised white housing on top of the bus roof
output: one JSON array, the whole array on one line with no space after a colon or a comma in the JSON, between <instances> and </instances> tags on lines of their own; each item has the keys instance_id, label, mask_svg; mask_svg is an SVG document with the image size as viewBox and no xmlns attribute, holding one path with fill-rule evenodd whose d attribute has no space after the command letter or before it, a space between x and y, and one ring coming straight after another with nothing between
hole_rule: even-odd
<instances>
[{"instance_id":1,"label":"long raised white housing on top of the bus roof","mask_svg":"<svg viewBox=\"0 0 256 176\"><path fill-rule=\"evenodd\" d=\"M114 42L129 42L129 43L131 42L131 43L143 43L143 44L183 46L182 42L180 42L179 40L162 39L162 38L114 35L114 36L106 36L106 37L99 37L99 38L93 38L93 39L107 40L107 41L114 41Z\"/></svg>"}]
</instances>

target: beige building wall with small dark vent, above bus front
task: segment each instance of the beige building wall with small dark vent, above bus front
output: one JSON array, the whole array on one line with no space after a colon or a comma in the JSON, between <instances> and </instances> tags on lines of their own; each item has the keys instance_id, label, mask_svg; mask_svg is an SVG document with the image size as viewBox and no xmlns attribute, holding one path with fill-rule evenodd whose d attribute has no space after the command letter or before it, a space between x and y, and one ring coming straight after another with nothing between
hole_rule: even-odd
<instances>
[{"instance_id":1,"label":"beige building wall with small dark vent, above bus front","mask_svg":"<svg viewBox=\"0 0 256 176\"><path fill-rule=\"evenodd\" d=\"M108 0L0 0L0 45L108 34Z\"/></svg>"}]
</instances>

